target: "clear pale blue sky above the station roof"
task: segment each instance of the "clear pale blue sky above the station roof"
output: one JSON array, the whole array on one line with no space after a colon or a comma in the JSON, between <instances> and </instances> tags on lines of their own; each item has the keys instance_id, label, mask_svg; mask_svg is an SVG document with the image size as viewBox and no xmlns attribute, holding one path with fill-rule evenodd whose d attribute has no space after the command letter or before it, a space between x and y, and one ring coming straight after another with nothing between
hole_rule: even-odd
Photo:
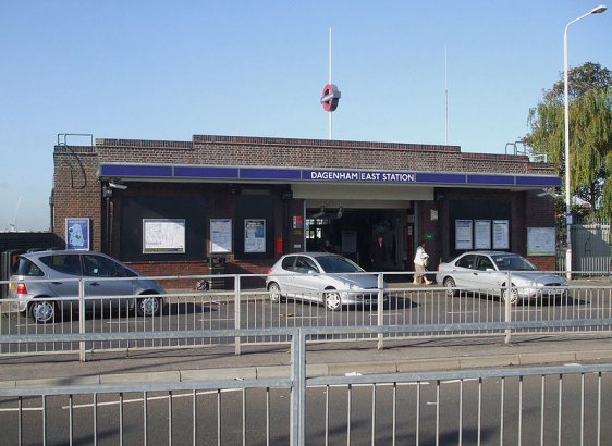
<instances>
[{"instance_id":1,"label":"clear pale blue sky above the station roof","mask_svg":"<svg viewBox=\"0 0 612 446\"><path fill-rule=\"evenodd\" d=\"M597 1L1 0L0 231L49 228L57 134L326 139L330 27L333 139L504 153ZM612 70L612 11L568 36Z\"/></svg>"}]
</instances>

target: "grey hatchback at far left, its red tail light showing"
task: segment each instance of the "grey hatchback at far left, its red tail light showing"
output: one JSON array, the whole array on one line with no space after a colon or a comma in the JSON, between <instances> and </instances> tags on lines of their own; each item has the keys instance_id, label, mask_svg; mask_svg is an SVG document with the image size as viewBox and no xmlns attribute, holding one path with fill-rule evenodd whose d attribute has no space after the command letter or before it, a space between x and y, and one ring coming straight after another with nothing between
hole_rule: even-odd
<instances>
[{"instance_id":1,"label":"grey hatchback at far left, its red tail light showing","mask_svg":"<svg viewBox=\"0 0 612 446\"><path fill-rule=\"evenodd\" d=\"M160 295L166 294L161 285L107 255L90 251L21 255L13 267L8 298L14 299L13 310L29 314L36 322L54 322L62 302L78 300L79 278L84 282L86 297L102 299L86 299L86 309L105 303L105 297L139 296L120 299L120 302L135 307L140 315L157 315L161 311ZM107 303L110 300L107 299Z\"/></svg>"}]
</instances>

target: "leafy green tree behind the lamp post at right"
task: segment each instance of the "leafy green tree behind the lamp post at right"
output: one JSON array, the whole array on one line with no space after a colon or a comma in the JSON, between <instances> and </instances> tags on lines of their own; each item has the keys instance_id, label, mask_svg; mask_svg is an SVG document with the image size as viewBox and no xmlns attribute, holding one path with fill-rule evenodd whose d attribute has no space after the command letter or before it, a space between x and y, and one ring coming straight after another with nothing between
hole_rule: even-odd
<instances>
[{"instance_id":1,"label":"leafy green tree behind the lamp post at right","mask_svg":"<svg viewBox=\"0 0 612 446\"><path fill-rule=\"evenodd\" d=\"M531 132L523 141L565 172L563 73L529 110ZM612 72L587 62L568 72L571 194L595 215L612 214Z\"/></svg>"}]
</instances>

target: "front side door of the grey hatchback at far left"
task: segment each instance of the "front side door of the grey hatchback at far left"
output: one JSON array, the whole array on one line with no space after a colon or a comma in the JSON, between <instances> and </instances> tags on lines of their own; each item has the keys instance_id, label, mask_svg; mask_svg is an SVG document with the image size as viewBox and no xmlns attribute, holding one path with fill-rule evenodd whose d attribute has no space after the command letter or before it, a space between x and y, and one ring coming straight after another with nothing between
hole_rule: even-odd
<instances>
[{"instance_id":1,"label":"front side door of the grey hatchback at far left","mask_svg":"<svg viewBox=\"0 0 612 446\"><path fill-rule=\"evenodd\" d=\"M118 297L134 294L134 281L125 278L125 269L115 261L95 253L83 255L85 296ZM89 306L115 307L118 299L88 299Z\"/></svg>"}]
</instances>

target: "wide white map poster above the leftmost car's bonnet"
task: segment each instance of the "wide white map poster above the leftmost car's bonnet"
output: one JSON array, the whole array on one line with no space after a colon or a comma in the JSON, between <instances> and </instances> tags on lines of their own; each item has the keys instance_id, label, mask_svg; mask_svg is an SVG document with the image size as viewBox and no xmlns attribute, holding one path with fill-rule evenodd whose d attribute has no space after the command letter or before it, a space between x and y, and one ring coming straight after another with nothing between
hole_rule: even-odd
<instances>
[{"instance_id":1,"label":"wide white map poster above the leftmost car's bonnet","mask_svg":"<svg viewBox=\"0 0 612 446\"><path fill-rule=\"evenodd\" d=\"M143 219L143 253L185 253L185 219Z\"/></svg>"}]
</instances>

